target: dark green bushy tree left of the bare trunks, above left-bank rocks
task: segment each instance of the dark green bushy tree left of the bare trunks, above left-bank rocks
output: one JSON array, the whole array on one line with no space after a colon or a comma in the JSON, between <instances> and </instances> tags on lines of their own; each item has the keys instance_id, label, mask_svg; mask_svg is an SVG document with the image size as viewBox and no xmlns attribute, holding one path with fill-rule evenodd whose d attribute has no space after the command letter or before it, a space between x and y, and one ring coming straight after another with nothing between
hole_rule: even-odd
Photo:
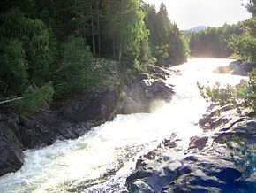
<instances>
[{"instance_id":1,"label":"dark green bushy tree left of the bare trunks, above left-bank rocks","mask_svg":"<svg viewBox=\"0 0 256 193\"><path fill-rule=\"evenodd\" d=\"M83 93L94 84L91 57L82 38L69 37L64 44L62 69L56 73L56 98Z\"/></svg>"}]
</instances>

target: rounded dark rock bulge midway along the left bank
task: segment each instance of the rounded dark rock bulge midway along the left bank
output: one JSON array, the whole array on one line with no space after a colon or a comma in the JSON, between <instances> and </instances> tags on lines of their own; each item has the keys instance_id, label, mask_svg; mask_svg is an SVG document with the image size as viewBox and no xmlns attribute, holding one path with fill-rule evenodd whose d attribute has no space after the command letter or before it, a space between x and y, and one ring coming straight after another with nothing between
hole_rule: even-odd
<instances>
[{"instance_id":1,"label":"rounded dark rock bulge midway along the left bank","mask_svg":"<svg viewBox=\"0 0 256 193\"><path fill-rule=\"evenodd\" d=\"M84 97L65 104L60 114L70 122L86 122L88 120L112 120L121 105L121 89L100 87Z\"/></svg>"}]
</instances>

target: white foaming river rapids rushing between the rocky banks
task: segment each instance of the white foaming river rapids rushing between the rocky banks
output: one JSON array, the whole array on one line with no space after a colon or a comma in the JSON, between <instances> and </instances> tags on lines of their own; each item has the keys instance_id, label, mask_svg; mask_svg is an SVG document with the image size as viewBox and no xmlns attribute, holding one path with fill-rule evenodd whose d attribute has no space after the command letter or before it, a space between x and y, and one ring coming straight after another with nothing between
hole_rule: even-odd
<instances>
[{"instance_id":1,"label":"white foaming river rapids rushing between the rocky banks","mask_svg":"<svg viewBox=\"0 0 256 193\"><path fill-rule=\"evenodd\" d=\"M216 66L230 61L192 59L173 67L182 75L168 79L176 86L169 104L154 104L152 113L117 115L76 140L25 151L24 166L0 178L0 192L125 192L126 177L140 155L172 133L183 139L184 146L192 135L200 134L196 123L208 104L196 83L238 83L239 76L213 73Z\"/></svg>"}]
</instances>

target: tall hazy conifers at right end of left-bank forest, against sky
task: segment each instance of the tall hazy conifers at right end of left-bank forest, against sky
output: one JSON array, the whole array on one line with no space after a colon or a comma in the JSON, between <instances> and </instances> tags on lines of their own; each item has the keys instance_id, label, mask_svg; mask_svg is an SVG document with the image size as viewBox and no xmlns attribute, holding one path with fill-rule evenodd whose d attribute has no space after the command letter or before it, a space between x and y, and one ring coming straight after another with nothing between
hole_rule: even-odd
<instances>
[{"instance_id":1,"label":"tall hazy conifers at right end of left-bank forest, against sky","mask_svg":"<svg viewBox=\"0 0 256 193\"><path fill-rule=\"evenodd\" d=\"M157 59L157 64L174 66L183 63L189 47L177 25L170 22L166 6L161 4L159 12L156 12L154 6L145 4L144 10L152 56Z\"/></svg>"}]
</instances>

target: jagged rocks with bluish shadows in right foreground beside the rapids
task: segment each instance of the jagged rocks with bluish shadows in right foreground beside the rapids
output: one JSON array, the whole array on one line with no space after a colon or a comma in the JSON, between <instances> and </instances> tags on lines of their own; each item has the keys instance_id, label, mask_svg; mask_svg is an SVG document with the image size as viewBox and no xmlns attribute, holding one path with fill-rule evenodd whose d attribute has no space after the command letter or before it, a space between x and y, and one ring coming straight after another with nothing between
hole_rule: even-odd
<instances>
[{"instance_id":1,"label":"jagged rocks with bluish shadows in right foreground beside the rapids","mask_svg":"<svg viewBox=\"0 0 256 193\"><path fill-rule=\"evenodd\" d=\"M154 151L141 156L127 178L129 192L253 192L255 173L239 181L243 168L230 159L224 139L237 135L256 143L256 118L229 106L211 105L200 120L202 135L192 137L187 148L172 135ZM141 190L147 189L147 191Z\"/></svg>"}]
</instances>

